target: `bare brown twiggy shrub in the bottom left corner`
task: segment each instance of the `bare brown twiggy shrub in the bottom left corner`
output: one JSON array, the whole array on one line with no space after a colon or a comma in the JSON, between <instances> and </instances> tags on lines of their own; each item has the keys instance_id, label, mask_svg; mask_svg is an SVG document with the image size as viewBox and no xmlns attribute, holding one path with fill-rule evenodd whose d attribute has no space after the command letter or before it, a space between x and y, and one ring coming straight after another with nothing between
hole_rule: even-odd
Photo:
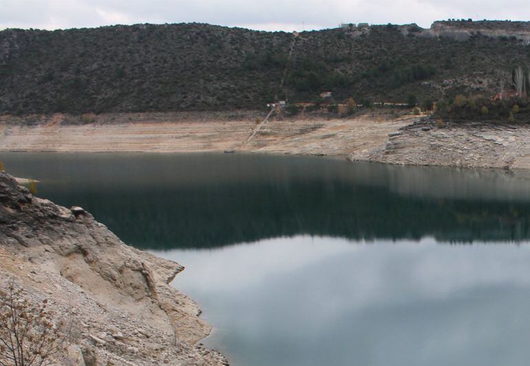
<instances>
[{"instance_id":1,"label":"bare brown twiggy shrub in the bottom left corner","mask_svg":"<svg viewBox=\"0 0 530 366\"><path fill-rule=\"evenodd\" d=\"M10 283L0 291L0 365L48 365L66 345L64 329L54 323L47 300L30 303L22 290Z\"/></svg>"}]
</instances>

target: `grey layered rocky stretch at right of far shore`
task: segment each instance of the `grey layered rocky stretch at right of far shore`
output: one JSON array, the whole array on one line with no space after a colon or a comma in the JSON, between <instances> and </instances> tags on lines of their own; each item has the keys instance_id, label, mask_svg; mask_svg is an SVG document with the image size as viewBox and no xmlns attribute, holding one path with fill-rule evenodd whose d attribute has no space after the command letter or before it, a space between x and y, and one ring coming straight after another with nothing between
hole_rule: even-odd
<instances>
[{"instance_id":1,"label":"grey layered rocky stretch at right of far shore","mask_svg":"<svg viewBox=\"0 0 530 366\"><path fill-rule=\"evenodd\" d=\"M439 123L418 119L389 134L385 145L349 159L400 165L530 169L530 127L502 123Z\"/></svg>"}]
</instances>

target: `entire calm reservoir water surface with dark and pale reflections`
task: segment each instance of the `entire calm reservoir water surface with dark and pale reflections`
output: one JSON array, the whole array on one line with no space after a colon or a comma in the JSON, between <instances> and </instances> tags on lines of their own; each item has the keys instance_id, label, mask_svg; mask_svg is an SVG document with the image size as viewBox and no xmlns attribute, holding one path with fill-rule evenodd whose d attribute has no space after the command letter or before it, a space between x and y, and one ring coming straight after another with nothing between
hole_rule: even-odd
<instances>
[{"instance_id":1,"label":"entire calm reservoir water surface with dark and pale reflections","mask_svg":"<svg viewBox=\"0 0 530 366\"><path fill-rule=\"evenodd\" d=\"M530 176L301 156L3 153L186 267L234 365L528 365Z\"/></svg>"}]
</instances>

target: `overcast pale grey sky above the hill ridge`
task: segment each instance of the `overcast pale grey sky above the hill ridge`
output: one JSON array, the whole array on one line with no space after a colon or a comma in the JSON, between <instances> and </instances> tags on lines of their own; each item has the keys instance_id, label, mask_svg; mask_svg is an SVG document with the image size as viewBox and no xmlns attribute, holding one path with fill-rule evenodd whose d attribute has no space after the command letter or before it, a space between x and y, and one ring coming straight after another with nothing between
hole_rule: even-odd
<instances>
[{"instance_id":1,"label":"overcast pale grey sky above the hill ridge","mask_svg":"<svg viewBox=\"0 0 530 366\"><path fill-rule=\"evenodd\" d=\"M339 23L417 23L448 18L530 19L522 0L0 0L0 29L47 30L200 22L257 30L311 30Z\"/></svg>"}]
</instances>

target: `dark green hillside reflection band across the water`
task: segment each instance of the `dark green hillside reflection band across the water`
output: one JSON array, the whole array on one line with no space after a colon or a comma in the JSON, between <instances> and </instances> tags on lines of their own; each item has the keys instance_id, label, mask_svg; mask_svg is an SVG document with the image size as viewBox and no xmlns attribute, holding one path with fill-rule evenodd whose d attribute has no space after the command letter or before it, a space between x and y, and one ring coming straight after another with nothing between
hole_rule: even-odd
<instances>
[{"instance_id":1,"label":"dark green hillside reflection band across the water","mask_svg":"<svg viewBox=\"0 0 530 366\"><path fill-rule=\"evenodd\" d=\"M92 187L47 194L83 205L125 243L141 248L218 247L310 234L352 240L521 241L530 203L404 197L341 181L224 184L171 190ZM75 195L75 199L70 194ZM56 198L53 196L56 195Z\"/></svg>"}]
</instances>

